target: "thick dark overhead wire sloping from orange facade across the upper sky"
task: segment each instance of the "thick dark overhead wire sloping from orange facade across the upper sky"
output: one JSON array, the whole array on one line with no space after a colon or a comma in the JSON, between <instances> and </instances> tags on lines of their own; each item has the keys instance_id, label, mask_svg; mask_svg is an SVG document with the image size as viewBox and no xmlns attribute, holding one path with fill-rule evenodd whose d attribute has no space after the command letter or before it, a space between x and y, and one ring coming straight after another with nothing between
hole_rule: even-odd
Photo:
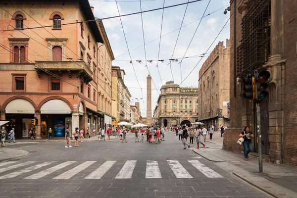
<instances>
[{"instance_id":1,"label":"thick dark overhead wire sloping from orange facade across the upper sky","mask_svg":"<svg viewBox=\"0 0 297 198\"><path fill-rule=\"evenodd\" d=\"M166 6L166 7L160 7L160 8L145 10L145 11L142 11L142 12L134 12L134 13L129 13L129 14L123 14L123 15L119 15L119 16L110 16L110 17L105 17L105 18L100 18L100 19L91 19L91 20L86 20L86 21L77 21L77 22L72 22L72 23L64 23L64 24L61 24L61 26L78 24L78 23L89 23L89 22L106 20L106 19L112 19L112 18L118 18L118 17L123 17L123 16L130 16L130 15L135 15L135 14L140 14L140 13L146 13L146 12L156 11L156 10L164 9L164 8L176 7L176 6L184 5L184 4L187 4L187 3L194 3L194 2L197 2L197 1L201 1L201 0L193 0L193 1L186 2L186 3L179 3L179 4L169 5L169 6ZM117 1L116 1L116 3L117 3ZM23 28L22 30L48 28L48 27L53 27L53 26L55 26L55 25L47 25L47 26L42 26L42 27ZM4 30L4 31L15 31L15 30L13 29L13 30Z\"/></svg>"}]
</instances>

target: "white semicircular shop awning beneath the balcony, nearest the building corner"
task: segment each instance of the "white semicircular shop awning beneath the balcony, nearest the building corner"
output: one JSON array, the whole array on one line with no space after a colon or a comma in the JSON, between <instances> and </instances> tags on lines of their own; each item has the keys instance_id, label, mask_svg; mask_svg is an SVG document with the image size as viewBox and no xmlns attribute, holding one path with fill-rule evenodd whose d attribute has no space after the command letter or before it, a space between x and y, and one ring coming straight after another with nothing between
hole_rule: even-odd
<instances>
[{"instance_id":1,"label":"white semicircular shop awning beneath the balcony, nearest the building corner","mask_svg":"<svg viewBox=\"0 0 297 198\"><path fill-rule=\"evenodd\" d=\"M71 109L66 102L60 99L51 99L40 108L41 114L69 114Z\"/></svg>"}]
</instances>

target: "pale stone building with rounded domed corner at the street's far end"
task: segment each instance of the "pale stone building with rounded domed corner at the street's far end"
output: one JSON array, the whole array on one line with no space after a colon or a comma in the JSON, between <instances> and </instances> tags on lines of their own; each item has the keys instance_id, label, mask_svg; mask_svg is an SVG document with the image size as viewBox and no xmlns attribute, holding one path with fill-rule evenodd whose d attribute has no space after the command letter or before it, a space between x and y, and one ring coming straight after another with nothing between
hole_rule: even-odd
<instances>
[{"instance_id":1,"label":"pale stone building with rounded domed corner at the street's far end","mask_svg":"<svg viewBox=\"0 0 297 198\"><path fill-rule=\"evenodd\" d=\"M174 81L161 87L154 123L159 126L187 125L198 121L198 88L181 88Z\"/></svg>"}]
</instances>

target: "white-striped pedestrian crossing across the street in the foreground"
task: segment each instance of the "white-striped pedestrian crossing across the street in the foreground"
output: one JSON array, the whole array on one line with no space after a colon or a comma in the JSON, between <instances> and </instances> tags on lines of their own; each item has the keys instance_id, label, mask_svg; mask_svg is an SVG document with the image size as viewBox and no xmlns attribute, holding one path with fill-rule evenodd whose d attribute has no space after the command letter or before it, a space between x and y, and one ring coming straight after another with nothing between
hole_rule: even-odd
<instances>
[{"instance_id":1,"label":"white-striped pedestrian crossing across the street in the foreground","mask_svg":"<svg viewBox=\"0 0 297 198\"><path fill-rule=\"evenodd\" d=\"M37 164L34 165L34 163ZM18 161L2 162L0 163L0 167L2 167L0 168L0 180L10 178L37 180L46 178L47 176L54 180L65 180L75 178L75 176L78 174L80 176L83 175L84 179L91 180L101 179L103 176L111 176L112 179L132 179L133 173L135 172L135 167L137 166L138 162L137 160L127 160L122 165L121 169L119 168L119 166L121 166L122 161L117 163L116 160L108 160L104 163L98 161L85 161L83 163L77 161L65 161L63 163L57 163L58 162L56 161L48 161L43 163L38 163L36 161L27 161L22 163L18 163ZM30 164L31 166L28 167L28 165ZM171 175L175 176L178 179L192 179L195 177L200 178L202 175L204 175L206 178L223 178L222 175L207 167L199 160L166 160L165 163L164 161L162 161L161 164L161 170L166 170L165 174L171 172ZM43 168L46 169L39 170ZM143 168L144 170L139 170L141 168ZM137 171L145 171L146 179L162 179L162 173L157 161L147 160L146 168L143 166L141 166L141 168L138 168ZM202 174L199 174L197 176L198 172L195 170L198 170ZM10 171L11 173L6 173L6 175L1 174L6 171ZM34 173L32 174L32 172Z\"/></svg>"}]
</instances>

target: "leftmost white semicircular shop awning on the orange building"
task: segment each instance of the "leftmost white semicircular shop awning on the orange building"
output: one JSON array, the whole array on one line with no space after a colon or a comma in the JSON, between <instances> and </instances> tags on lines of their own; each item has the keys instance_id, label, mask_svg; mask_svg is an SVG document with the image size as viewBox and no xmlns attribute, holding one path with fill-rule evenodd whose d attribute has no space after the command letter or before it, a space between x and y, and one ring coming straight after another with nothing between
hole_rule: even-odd
<instances>
[{"instance_id":1,"label":"leftmost white semicircular shop awning on the orange building","mask_svg":"<svg viewBox=\"0 0 297 198\"><path fill-rule=\"evenodd\" d=\"M11 100L5 107L5 113L28 113L28 114L34 114L35 109L34 106L25 99L14 99Z\"/></svg>"}]
</instances>

